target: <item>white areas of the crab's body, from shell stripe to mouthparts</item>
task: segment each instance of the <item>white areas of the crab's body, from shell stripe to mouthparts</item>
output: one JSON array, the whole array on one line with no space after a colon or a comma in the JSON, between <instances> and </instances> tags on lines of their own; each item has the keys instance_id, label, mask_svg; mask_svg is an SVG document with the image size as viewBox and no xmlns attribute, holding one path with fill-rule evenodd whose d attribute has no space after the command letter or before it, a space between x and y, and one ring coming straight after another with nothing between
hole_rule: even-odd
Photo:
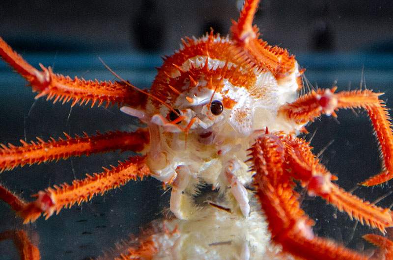
<instances>
[{"instance_id":1,"label":"white areas of the crab's body, from shell stripe to mouthparts","mask_svg":"<svg viewBox=\"0 0 393 260\"><path fill-rule=\"evenodd\" d=\"M225 61L198 55L185 61L180 69L187 72L192 67L202 68L206 59L209 70L225 66ZM228 62L226 66L237 65ZM224 86L219 91L205 87L208 84L205 79L200 79L196 87L190 87L185 81L183 92L171 101L172 108L179 110L181 122L167 122L170 110L165 105L161 105L160 114L152 115L151 121L147 122L151 132L153 125L159 130L151 141L151 151L155 152L147 153L146 163L153 177L176 186L171 192L170 209L178 218L189 219L197 212L190 197L197 194L200 182L224 188L223 192L229 187L247 216L249 192L244 185L252 182L253 175L249 165L244 163L248 159L247 149L266 128L271 132L296 133L303 127L278 113L281 105L298 97L300 73L297 63L291 73L279 80L269 71L254 69L253 73L255 85L248 89L234 86L227 78L223 78ZM180 72L170 76L176 78ZM214 115L209 102L225 99L233 100L234 106L224 107L222 113ZM188 130L187 134L184 129ZM192 178L182 176L176 179L180 168L182 175Z\"/></svg>"}]
</instances>

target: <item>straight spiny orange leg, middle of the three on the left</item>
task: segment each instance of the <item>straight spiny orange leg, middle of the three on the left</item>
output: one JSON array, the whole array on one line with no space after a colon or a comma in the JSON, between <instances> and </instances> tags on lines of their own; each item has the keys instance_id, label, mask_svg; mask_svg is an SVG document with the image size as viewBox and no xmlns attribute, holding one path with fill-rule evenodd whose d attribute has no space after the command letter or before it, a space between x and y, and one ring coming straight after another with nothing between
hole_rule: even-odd
<instances>
[{"instance_id":1,"label":"straight spiny orange leg, middle of the three on the left","mask_svg":"<svg viewBox=\"0 0 393 260\"><path fill-rule=\"evenodd\" d=\"M131 133L97 132L95 136L84 133L83 137L76 135L74 138L66 133L64 135L66 139L59 138L58 141L51 138L45 142L38 137L38 142L27 143L21 140L22 146L19 147L0 144L0 172L16 166L67 159L70 156L89 156L115 150L140 152L149 144L149 132L143 129Z\"/></svg>"}]
</instances>

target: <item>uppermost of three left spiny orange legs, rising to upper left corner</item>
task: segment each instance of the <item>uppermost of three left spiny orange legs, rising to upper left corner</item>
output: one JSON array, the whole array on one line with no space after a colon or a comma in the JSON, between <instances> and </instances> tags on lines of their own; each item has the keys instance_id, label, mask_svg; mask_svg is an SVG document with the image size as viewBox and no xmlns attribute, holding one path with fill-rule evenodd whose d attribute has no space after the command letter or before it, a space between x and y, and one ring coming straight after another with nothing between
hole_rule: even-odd
<instances>
[{"instance_id":1,"label":"uppermost of three left spiny orange legs, rising to upper left corner","mask_svg":"<svg viewBox=\"0 0 393 260\"><path fill-rule=\"evenodd\" d=\"M34 92L39 92L35 97L47 95L47 100L54 99L54 103L63 103L72 100L72 105L77 103L91 106L98 102L99 105L106 102L109 104L129 104L138 107L145 104L146 95L126 83L84 80L75 77L64 77L54 74L50 67L45 68L42 64L39 71L26 62L21 55L14 52L3 39L0 38L0 56L16 72L18 72L32 86Z\"/></svg>"}]
</instances>

